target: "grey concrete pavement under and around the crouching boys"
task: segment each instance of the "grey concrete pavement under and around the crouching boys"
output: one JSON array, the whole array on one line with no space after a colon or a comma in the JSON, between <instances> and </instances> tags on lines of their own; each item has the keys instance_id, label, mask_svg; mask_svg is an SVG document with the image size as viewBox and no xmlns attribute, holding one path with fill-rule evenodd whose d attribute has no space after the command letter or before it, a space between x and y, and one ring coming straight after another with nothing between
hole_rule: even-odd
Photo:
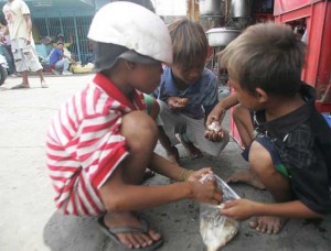
<instances>
[{"instance_id":1,"label":"grey concrete pavement under and around the crouching boys","mask_svg":"<svg viewBox=\"0 0 331 251\"><path fill-rule=\"evenodd\" d=\"M93 75L46 76L50 88L40 88L31 77L30 89L10 90L20 78L9 78L0 87L0 250L1 251L96 251L121 250L98 229L95 218L63 216L55 211L53 189L45 168L45 132L50 120ZM228 118L227 118L228 123ZM158 153L164 154L158 145ZM182 165L212 166L225 178L246 168L241 149L231 141L220 157L191 160L179 148ZM148 184L167 184L157 175ZM232 187L241 197L260 201L268 193L244 184ZM161 251L204 250L199 232L199 204L183 200L143 211L163 236ZM241 223L239 233L222 250L330 250L331 217L323 221L289 220L276 236L261 234Z\"/></svg>"}]
</instances>

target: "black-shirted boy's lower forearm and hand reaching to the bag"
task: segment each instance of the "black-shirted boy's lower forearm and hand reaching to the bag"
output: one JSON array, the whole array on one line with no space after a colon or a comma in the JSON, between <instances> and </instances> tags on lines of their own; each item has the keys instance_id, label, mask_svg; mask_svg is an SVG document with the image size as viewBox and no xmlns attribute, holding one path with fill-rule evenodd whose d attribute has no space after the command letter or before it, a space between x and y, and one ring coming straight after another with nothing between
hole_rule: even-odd
<instances>
[{"instance_id":1,"label":"black-shirted boy's lower forearm and hand reaching to the bag","mask_svg":"<svg viewBox=\"0 0 331 251\"><path fill-rule=\"evenodd\" d=\"M309 209L300 200L288 203L264 204L248 199L225 203L221 215L236 220L246 220L253 216L275 216L285 218L321 218L322 215Z\"/></svg>"}]
</instances>

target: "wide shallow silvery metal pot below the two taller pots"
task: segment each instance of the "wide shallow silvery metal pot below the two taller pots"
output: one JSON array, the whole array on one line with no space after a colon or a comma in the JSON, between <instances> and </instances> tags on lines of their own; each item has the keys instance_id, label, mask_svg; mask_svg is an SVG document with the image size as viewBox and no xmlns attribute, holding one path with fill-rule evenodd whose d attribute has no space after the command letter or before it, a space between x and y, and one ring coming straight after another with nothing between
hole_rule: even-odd
<instances>
[{"instance_id":1,"label":"wide shallow silvery metal pot below the two taller pots","mask_svg":"<svg viewBox=\"0 0 331 251\"><path fill-rule=\"evenodd\" d=\"M233 28L213 28L206 31L210 46L226 46L241 34L241 30Z\"/></svg>"}]
</instances>

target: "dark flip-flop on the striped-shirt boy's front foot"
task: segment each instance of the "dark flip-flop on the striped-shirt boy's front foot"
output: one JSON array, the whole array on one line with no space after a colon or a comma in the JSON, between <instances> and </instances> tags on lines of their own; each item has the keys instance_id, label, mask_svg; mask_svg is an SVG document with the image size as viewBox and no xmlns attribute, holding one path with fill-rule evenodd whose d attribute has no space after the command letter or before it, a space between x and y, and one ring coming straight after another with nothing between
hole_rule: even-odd
<instances>
[{"instance_id":1,"label":"dark flip-flop on the striped-shirt boy's front foot","mask_svg":"<svg viewBox=\"0 0 331 251\"><path fill-rule=\"evenodd\" d=\"M104 216L98 218L98 225L100 226L102 231L109 237L110 240L113 240L115 243L117 243L118 245L121 245L122 248L126 248L126 250L139 250L139 251L152 251L152 250L157 250L159 247L161 247L163 244L163 240L160 239L158 241L154 241L151 245L148 247L142 247L139 249L136 248L128 248L127 245L125 245L124 243L120 242L120 240L118 239L118 237L116 236L117 233L125 233L125 232L142 232L142 233L148 233L149 231L149 227L147 221L143 218L140 218L141 221L141 227L140 228L134 228L134 227L119 227L119 228L108 228L105 225L105 220L104 220Z\"/></svg>"}]
</instances>

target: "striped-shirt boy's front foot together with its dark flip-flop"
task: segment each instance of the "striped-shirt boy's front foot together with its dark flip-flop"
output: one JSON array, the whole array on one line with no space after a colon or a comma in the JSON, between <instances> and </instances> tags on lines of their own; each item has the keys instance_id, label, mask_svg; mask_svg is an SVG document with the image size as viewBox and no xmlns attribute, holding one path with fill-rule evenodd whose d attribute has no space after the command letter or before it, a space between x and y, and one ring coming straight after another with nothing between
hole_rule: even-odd
<instances>
[{"instance_id":1,"label":"striped-shirt boy's front foot together with its dark flip-flop","mask_svg":"<svg viewBox=\"0 0 331 251\"><path fill-rule=\"evenodd\" d=\"M130 249L157 249L162 244L160 233L131 212L107 212L99 218L98 223L113 241Z\"/></svg>"}]
</instances>

